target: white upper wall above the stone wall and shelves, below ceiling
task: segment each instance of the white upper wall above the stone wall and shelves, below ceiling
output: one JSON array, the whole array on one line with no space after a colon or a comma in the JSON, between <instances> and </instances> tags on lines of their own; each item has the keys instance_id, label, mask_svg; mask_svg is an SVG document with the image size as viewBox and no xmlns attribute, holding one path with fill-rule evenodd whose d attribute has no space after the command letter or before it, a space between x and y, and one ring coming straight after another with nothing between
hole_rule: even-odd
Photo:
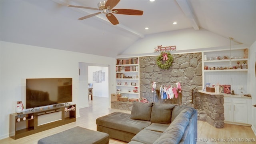
<instances>
[{"instance_id":1,"label":"white upper wall above the stone wall and shelves, below ceiling","mask_svg":"<svg viewBox=\"0 0 256 144\"><path fill-rule=\"evenodd\" d=\"M235 45L237 43L234 42L233 44ZM152 53L158 45L176 46L176 52L188 52L194 51L195 49L201 50L204 48L229 46L230 39L202 28L200 30L188 28L145 36L145 38L132 44L122 55Z\"/></svg>"}]
</instances>

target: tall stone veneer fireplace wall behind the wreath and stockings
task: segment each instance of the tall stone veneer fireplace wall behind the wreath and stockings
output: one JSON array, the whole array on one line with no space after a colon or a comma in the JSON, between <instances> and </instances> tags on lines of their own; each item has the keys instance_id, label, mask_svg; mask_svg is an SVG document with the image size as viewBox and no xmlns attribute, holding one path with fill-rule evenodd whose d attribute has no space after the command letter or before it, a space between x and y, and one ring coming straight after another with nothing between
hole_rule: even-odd
<instances>
[{"instance_id":1,"label":"tall stone veneer fireplace wall behind the wreath and stockings","mask_svg":"<svg viewBox=\"0 0 256 144\"><path fill-rule=\"evenodd\" d=\"M202 53L173 54L172 56L173 63L168 70L158 67L156 64L158 56L140 57L140 98L144 97L149 102L159 102L156 99L156 92L151 92L152 82L157 83L156 89L159 89L161 84L176 87L176 82L180 82L182 105L191 106L191 90L202 89ZM170 100L160 100L160 102L171 103Z\"/></svg>"}]
</instances>

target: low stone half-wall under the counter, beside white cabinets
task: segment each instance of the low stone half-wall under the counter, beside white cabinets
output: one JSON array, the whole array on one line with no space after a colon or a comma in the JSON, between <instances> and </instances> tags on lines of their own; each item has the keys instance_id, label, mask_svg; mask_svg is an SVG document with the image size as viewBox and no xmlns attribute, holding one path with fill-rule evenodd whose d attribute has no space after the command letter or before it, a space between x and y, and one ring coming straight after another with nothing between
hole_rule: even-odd
<instances>
[{"instance_id":1,"label":"low stone half-wall under the counter, beside white cabinets","mask_svg":"<svg viewBox=\"0 0 256 144\"><path fill-rule=\"evenodd\" d=\"M224 128L224 96L199 94L201 97L201 108L207 114L205 121L215 128ZM200 115L200 113L198 113Z\"/></svg>"}]
</instances>

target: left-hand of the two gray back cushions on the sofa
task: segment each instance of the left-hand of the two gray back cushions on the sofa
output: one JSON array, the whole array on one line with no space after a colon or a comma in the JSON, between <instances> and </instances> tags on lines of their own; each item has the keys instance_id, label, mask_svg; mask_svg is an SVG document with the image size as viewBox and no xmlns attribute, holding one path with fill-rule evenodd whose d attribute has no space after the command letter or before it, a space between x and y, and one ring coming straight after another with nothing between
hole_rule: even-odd
<instances>
[{"instance_id":1,"label":"left-hand of the two gray back cushions on the sofa","mask_svg":"<svg viewBox=\"0 0 256 144\"><path fill-rule=\"evenodd\" d=\"M150 121L153 103L136 102L132 103L131 119Z\"/></svg>"}]
</instances>

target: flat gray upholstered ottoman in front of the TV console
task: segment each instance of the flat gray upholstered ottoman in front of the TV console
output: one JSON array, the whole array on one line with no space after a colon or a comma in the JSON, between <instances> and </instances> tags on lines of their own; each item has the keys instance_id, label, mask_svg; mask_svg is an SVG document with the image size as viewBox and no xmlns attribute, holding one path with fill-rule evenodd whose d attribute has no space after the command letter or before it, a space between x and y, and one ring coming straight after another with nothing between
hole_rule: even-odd
<instances>
[{"instance_id":1,"label":"flat gray upholstered ottoman in front of the TV console","mask_svg":"<svg viewBox=\"0 0 256 144\"><path fill-rule=\"evenodd\" d=\"M76 126L38 140L38 144L108 144L109 135Z\"/></svg>"}]
</instances>

